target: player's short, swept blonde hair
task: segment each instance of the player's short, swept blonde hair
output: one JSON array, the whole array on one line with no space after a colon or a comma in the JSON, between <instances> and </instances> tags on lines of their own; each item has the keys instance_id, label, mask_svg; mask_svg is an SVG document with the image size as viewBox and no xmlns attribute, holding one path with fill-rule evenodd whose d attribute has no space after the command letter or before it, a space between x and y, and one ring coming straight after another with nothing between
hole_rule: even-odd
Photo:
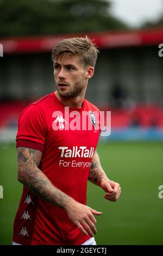
<instances>
[{"instance_id":1,"label":"player's short, swept blonde hair","mask_svg":"<svg viewBox=\"0 0 163 256\"><path fill-rule=\"evenodd\" d=\"M53 62L63 53L76 54L86 66L95 67L99 51L94 42L85 36L85 38L68 38L60 41L52 50Z\"/></svg>"}]
</instances>

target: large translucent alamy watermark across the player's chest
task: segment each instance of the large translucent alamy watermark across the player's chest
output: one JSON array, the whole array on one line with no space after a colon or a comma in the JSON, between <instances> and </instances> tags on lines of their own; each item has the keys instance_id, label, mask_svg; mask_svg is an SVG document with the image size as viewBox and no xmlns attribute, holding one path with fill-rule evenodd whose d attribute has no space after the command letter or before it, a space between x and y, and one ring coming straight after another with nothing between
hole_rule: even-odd
<instances>
[{"instance_id":1,"label":"large translucent alamy watermark across the player's chest","mask_svg":"<svg viewBox=\"0 0 163 256\"><path fill-rule=\"evenodd\" d=\"M97 131L101 136L110 136L111 134L111 111L70 111L65 107L64 113L54 111L52 114L54 121L52 128L54 131Z\"/></svg>"}]
</instances>

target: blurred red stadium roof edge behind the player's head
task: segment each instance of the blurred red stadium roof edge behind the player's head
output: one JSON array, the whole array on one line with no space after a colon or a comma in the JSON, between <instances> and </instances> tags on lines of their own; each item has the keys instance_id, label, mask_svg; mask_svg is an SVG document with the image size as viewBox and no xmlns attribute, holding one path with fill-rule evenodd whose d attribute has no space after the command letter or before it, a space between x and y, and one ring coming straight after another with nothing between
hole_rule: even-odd
<instances>
[{"instance_id":1,"label":"blurred red stadium roof edge behind the player's head","mask_svg":"<svg viewBox=\"0 0 163 256\"><path fill-rule=\"evenodd\" d=\"M4 53L51 52L62 39L74 36L89 36L95 39L99 48L159 45L163 43L163 28L125 32L98 32L81 34L61 34L48 36L26 36L0 38Z\"/></svg>"}]
</instances>

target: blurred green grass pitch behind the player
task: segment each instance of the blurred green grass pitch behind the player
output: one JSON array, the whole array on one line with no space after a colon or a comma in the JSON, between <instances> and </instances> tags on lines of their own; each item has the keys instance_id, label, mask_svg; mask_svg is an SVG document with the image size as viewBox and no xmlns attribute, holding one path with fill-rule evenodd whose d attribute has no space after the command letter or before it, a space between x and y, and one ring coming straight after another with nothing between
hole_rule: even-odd
<instances>
[{"instance_id":1,"label":"blurred green grass pitch behind the player","mask_svg":"<svg viewBox=\"0 0 163 256\"><path fill-rule=\"evenodd\" d=\"M163 245L163 143L109 142L98 145L102 166L109 178L121 184L121 198L104 199L101 188L88 183L87 205L102 211L96 216L98 245ZM22 186L17 181L14 145L0 145L0 244L12 240L13 221Z\"/></svg>"}]
</instances>

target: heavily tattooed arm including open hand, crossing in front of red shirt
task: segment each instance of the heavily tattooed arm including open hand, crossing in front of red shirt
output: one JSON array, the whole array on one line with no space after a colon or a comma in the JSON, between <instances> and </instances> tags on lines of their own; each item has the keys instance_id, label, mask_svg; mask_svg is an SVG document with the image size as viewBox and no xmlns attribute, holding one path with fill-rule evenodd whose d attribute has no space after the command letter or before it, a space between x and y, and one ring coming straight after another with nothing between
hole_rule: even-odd
<instances>
[{"instance_id":1,"label":"heavily tattooed arm including open hand, crossing in front of red shirt","mask_svg":"<svg viewBox=\"0 0 163 256\"><path fill-rule=\"evenodd\" d=\"M36 196L64 209L70 220L77 225L83 234L87 235L89 233L90 236L94 236L97 230L95 227L96 219L93 215L101 215L102 213L78 203L55 187L38 168L41 156L42 152L39 150L24 147L17 148L18 181Z\"/></svg>"}]
</instances>

